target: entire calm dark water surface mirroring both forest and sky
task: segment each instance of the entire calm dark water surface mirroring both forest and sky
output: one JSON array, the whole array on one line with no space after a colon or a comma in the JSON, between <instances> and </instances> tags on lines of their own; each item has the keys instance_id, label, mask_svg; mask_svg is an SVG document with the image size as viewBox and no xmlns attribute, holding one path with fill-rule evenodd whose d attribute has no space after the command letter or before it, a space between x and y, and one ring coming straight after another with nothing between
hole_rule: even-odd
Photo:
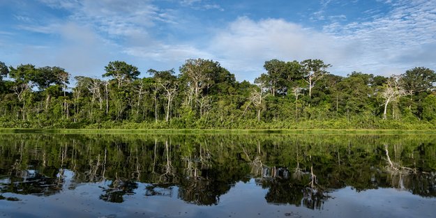
<instances>
[{"instance_id":1,"label":"entire calm dark water surface mirroring both forest and sky","mask_svg":"<svg viewBox=\"0 0 436 218\"><path fill-rule=\"evenodd\" d=\"M435 214L433 134L0 134L0 217Z\"/></svg>"}]
</instances>

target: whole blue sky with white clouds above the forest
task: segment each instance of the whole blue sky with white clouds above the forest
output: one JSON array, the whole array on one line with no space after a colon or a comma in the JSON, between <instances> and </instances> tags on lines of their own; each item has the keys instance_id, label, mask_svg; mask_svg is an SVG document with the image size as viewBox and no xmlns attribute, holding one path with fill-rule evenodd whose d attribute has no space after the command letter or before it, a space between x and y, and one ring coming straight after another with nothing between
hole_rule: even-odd
<instances>
[{"instance_id":1,"label":"whole blue sky with white clouds above the forest","mask_svg":"<svg viewBox=\"0 0 436 218\"><path fill-rule=\"evenodd\" d=\"M436 0L0 0L0 61L101 77L110 61L176 72L211 59L253 81L265 61L329 72L436 70Z\"/></svg>"}]
</instances>

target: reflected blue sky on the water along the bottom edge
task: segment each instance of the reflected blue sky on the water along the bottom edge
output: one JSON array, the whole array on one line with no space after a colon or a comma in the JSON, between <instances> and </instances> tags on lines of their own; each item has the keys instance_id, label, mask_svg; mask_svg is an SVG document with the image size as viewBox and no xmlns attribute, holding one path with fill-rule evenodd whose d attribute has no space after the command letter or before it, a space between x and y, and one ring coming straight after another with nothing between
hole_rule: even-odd
<instances>
[{"instance_id":1,"label":"reflected blue sky on the water along the bottom edge","mask_svg":"<svg viewBox=\"0 0 436 218\"><path fill-rule=\"evenodd\" d=\"M70 172L70 171L69 171ZM70 175L68 171L64 175ZM71 176L71 175L70 175ZM146 196L146 186L138 183L135 194L124 196L123 203L110 203L98 198L105 182L82 183L75 189L64 189L52 196L5 193L22 201L0 201L0 217L433 217L435 198L422 198L397 189L370 189L356 192L349 187L329 193L322 210L294 205L271 205L262 189L249 182L237 182L218 205L199 206L177 198L173 187L170 196ZM20 209L19 209L20 208Z\"/></svg>"}]
</instances>

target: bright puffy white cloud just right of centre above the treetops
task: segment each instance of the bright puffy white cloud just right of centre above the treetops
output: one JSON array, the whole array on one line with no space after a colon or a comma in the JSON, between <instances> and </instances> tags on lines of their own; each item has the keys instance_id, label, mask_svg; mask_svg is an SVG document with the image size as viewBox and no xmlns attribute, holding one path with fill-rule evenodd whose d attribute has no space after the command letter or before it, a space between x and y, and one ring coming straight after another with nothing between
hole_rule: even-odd
<instances>
[{"instance_id":1,"label":"bright puffy white cloud just right of centre above the treetops","mask_svg":"<svg viewBox=\"0 0 436 218\"><path fill-rule=\"evenodd\" d=\"M298 24L276 19L255 22L247 17L220 30L210 44L209 53L216 54L232 72L239 72L238 79L250 80L264 72L263 63L270 59L322 59L336 65L354 50L348 42Z\"/></svg>"}]
</instances>

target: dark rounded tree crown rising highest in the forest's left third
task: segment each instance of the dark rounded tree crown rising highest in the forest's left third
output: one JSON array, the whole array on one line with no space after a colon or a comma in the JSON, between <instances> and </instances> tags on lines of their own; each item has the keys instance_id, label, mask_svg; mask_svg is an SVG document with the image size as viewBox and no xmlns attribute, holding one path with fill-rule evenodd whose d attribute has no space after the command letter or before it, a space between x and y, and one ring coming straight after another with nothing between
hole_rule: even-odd
<instances>
[{"instance_id":1,"label":"dark rounded tree crown rising highest in the forest's left third","mask_svg":"<svg viewBox=\"0 0 436 218\"><path fill-rule=\"evenodd\" d=\"M127 64L124 61L110 61L107 66L105 66L106 73L103 74L103 77L113 77L116 79L118 84L118 88L123 86L124 82L133 81L133 79L137 79L137 76L140 75L140 71L137 70L137 67Z\"/></svg>"}]
</instances>

